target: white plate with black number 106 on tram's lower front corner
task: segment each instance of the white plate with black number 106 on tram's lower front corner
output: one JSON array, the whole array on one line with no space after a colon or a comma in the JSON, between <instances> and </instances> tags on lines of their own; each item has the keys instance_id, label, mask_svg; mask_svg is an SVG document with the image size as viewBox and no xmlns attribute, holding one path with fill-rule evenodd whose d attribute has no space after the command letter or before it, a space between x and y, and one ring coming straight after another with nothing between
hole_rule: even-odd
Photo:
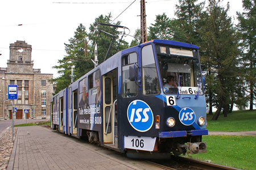
<instances>
[{"instance_id":1,"label":"white plate with black number 106 on tram's lower front corner","mask_svg":"<svg viewBox=\"0 0 256 170\"><path fill-rule=\"evenodd\" d=\"M125 136L125 148L134 150L153 151L156 137Z\"/></svg>"}]
</instances>

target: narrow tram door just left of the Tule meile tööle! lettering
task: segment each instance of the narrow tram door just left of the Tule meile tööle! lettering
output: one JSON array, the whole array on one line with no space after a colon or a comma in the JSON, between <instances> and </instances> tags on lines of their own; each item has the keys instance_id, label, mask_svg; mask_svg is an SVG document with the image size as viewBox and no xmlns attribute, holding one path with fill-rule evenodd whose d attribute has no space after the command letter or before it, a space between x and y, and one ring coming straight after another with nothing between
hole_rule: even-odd
<instances>
[{"instance_id":1,"label":"narrow tram door just left of the Tule meile t\u00f6\u00f6le! lettering","mask_svg":"<svg viewBox=\"0 0 256 170\"><path fill-rule=\"evenodd\" d=\"M77 134L77 105L78 105L78 100L77 100L77 90L72 91L72 128L73 128L73 133L72 134Z\"/></svg>"}]
</instances>

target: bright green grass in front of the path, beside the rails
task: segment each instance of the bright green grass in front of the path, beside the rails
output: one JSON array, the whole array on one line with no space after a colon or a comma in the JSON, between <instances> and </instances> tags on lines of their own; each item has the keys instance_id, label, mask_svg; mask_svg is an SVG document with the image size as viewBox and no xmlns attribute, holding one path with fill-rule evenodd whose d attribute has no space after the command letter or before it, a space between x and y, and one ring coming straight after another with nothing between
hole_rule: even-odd
<instances>
[{"instance_id":1,"label":"bright green grass in front of the path, beside the rails","mask_svg":"<svg viewBox=\"0 0 256 170\"><path fill-rule=\"evenodd\" d=\"M256 137L203 136L207 153L194 154L193 159L210 160L211 163L239 169L253 170L256 167Z\"/></svg>"}]
</instances>

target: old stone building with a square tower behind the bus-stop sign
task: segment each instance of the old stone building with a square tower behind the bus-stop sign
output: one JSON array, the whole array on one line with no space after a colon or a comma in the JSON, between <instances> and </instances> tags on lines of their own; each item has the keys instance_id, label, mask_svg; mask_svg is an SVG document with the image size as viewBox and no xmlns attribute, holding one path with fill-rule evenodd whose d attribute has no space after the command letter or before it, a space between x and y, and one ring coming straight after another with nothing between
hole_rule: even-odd
<instances>
[{"instance_id":1,"label":"old stone building with a square tower behind the bus-stop sign","mask_svg":"<svg viewBox=\"0 0 256 170\"><path fill-rule=\"evenodd\" d=\"M11 119L11 108L17 108L16 119L49 118L53 74L42 74L33 69L31 45L25 41L10 44L10 59L7 68L0 67L0 118ZM8 85L18 85L18 99L7 100ZM24 113L24 109L28 113Z\"/></svg>"}]
</instances>

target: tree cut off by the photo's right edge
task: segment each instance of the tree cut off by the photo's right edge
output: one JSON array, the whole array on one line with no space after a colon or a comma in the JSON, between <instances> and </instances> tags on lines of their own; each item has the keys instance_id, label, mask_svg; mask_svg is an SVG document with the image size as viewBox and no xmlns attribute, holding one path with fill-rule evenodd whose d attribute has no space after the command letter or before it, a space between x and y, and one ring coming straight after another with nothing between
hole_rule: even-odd
<instances>
[{"instance_id":1,"label":"tree cut off by the photo's right edge","mask_svg":"<svg viewBox=\"0 0 256 170\"><path fill-rule=\"evenodd\" d=\"M256 99L256 6L255 0L243 0L244 12L237 12L241 32L242 66L249 87L250 111Z\"/></svg>"}]
</instances>

